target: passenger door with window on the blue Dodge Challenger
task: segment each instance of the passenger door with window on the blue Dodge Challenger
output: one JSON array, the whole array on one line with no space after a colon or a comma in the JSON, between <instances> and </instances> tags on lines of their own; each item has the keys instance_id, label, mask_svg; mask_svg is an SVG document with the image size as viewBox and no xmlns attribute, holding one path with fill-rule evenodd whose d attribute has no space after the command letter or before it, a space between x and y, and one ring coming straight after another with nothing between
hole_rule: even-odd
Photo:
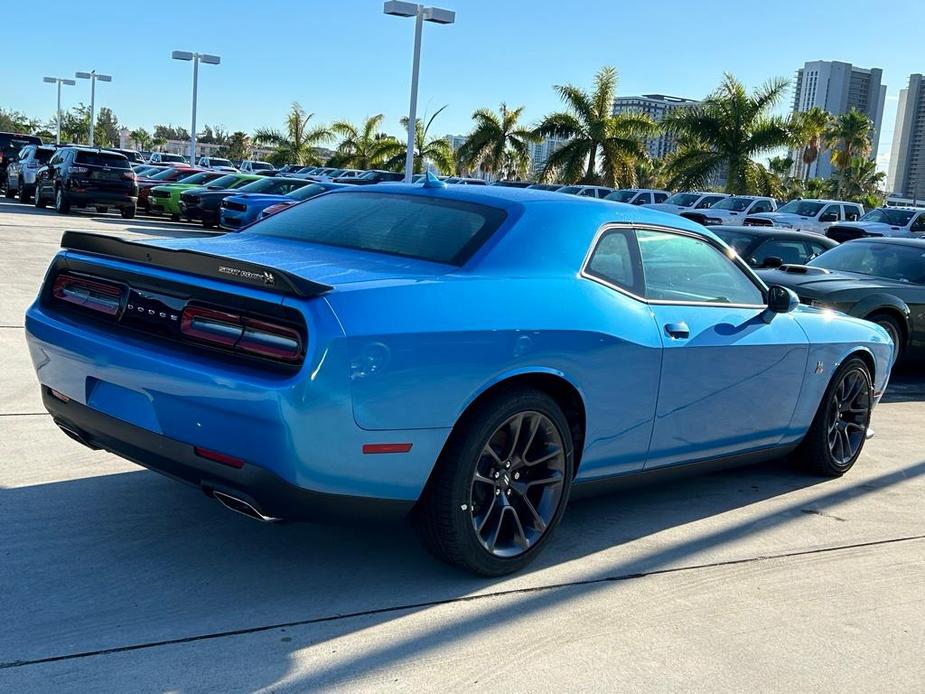
<instances>
[{"instance_id":1,"label":"passenger door with window on the blue Dodge Challenger","mask_svg":"<svg viewBox=\"0 0 925 694\"><path fill-rule=\"evenodd\" d=\"M646 468L779 443L806 373L799 324L766 314L763 290L712 242L681 231L636 235L663 347Z\"/></svg>"}]
</instances>

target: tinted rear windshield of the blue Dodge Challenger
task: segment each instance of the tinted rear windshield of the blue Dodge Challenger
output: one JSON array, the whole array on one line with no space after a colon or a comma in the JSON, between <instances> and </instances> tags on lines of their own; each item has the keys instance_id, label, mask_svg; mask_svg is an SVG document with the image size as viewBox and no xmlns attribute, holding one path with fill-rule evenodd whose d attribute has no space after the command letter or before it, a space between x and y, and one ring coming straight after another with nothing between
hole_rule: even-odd
<instances>
[{"instance_id":1,"label":"tinted rear windshield of the blue Dodge Challenger","mask_svg":"<svg viewBox=\"0 0 925 694\"><path fill-rule=\"evenodd\" d=\"M456 200L350 191L308 200L250 233L462 265L505 216Z\"/></svg>"}]
</instances>

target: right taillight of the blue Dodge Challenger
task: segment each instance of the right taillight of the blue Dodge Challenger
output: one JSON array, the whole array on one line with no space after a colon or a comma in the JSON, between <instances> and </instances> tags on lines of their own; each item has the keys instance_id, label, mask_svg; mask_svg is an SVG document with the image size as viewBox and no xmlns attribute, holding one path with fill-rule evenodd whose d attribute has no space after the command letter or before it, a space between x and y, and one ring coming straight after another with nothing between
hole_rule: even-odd
<instances>
[{"instance_id":1,"label":"right taillight of the blue Dodge Challenger","mask_svg":"<svg viewBox=\"0 0 925 694\"><path fill-rule=\"evenodd\" d=\"M302 337L290 327L236 313L187 306L180 319L186 337L285 362L302 357Z\"/></svg>"}]
</instances>

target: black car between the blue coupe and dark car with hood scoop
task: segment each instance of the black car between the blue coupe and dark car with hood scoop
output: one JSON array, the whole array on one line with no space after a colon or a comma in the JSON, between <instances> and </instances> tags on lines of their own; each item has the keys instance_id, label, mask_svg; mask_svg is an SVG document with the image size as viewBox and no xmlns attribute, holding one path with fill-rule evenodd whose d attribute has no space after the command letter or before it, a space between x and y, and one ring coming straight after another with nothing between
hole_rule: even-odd
<instances>
[{"instance_id":1,"label":"black car between the blue coupe and dark car with hood scoop","mask_svg":"<svg viewBox=\"0 0 925 694\"><path fill-rule=\"evenodd\" d=\"M707 227L751 267L801 265L838 245L837 241L808 231L773 227Z\"/></svg>"}]
</instances>

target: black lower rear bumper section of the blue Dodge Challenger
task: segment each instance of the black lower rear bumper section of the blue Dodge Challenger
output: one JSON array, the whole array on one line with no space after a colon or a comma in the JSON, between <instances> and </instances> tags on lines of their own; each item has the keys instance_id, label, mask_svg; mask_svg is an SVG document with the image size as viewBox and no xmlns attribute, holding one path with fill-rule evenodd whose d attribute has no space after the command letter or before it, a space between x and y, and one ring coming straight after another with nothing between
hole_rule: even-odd
<instances>
[{"instance_id":1,"label":"black lower rear bumper section of the blue Dodge Challenger","mask_svg":"<svg viewBox=\"0 0 925 694\"><path fill-rule=\"evenodd\" d=\"M102 448L212 496L222 492L247 501L265 516L314 522L400 518L413 501L346 496L304 489L256 465L236 469L201 458L193 446L136 427L76 401L63 402L42 387L55 424L90 448Z\"/></svg>"}]
</instances>

